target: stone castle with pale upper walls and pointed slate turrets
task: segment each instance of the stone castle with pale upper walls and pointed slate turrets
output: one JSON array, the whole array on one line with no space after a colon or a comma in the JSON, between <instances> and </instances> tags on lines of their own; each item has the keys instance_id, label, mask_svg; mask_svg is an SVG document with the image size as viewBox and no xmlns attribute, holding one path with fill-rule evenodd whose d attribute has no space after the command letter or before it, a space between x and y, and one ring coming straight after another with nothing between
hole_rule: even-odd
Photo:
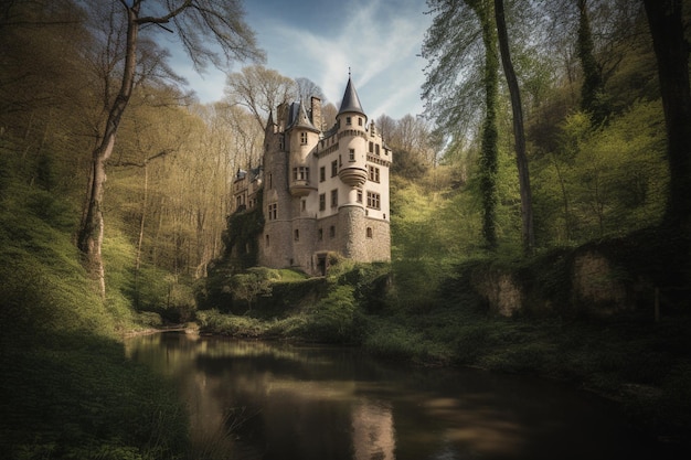
<instances>
[{"instance_id":1,"label":"stone castle with pale upper walls and pointed slate turrets","mask_svg":"<svg viewBox=\"0 0 691 460\"><path fill-rule=\"evenodd\" d=\"M333 127L323 130L317 97L309 107L279 105L276 115L266 124L263 165L238 171L233 183L234 211L263 206L258 265L321 276L330 253L390 260L392 153L350 76Z\"/></svg>"}]
</instances>

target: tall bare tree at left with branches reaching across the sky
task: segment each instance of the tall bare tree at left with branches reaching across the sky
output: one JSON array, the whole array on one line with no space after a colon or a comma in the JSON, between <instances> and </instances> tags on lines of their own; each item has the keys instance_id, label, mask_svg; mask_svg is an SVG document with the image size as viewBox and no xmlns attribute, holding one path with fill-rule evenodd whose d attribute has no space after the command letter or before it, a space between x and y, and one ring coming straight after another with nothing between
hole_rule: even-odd
<instances>
[{"instance_id":1,"label":"tall bare tree at left with branches reaching across the sky","mask_svg":"<svg viewBox=\"0 0 691 460\"><path fill-rule=\"evenodd\" d=\"M223 67L236 58L263 57L256 47L253 32L242 20L242 9L237 1L119 0L117 4L118 10L114 12L119 14L118 19L121 19L125 28L125 42L119 50L123 56L119 89L115 99L107 101L105 122L92 152L86 211L77 235L77 246L83 254L84 264L98 280L102 296L105 296L106 289L100 253L106 162L113 154L118 127L137 82L139 45L143 41L140 32L159 29L177 31L198 71L203 71L209 63ZM102 26L107 28L108 24ZM145 26L148 28L145 30ZM220 46L220 52L206 44L208 39Z\"/></svg>"}]
</instances>

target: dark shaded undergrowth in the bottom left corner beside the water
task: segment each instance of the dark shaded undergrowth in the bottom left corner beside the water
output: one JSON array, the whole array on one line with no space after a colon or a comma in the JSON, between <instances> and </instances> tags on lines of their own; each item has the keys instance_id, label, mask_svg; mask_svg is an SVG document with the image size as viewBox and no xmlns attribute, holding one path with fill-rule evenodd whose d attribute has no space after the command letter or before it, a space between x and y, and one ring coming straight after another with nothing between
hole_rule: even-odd
<instances>
[{"instance_id":1,"label":"dark shaded undergrowth in the bottom left corner beside the water","mask_svg":"<svg viewBox=\"0 0 691 460\"><path fill-rule=\"evenodd\" d=\"M12 459L166 459L184 450L187 414L172 384L94 335L0 361L0 448ZM121 457L120 457L121 456Z\"/></svg>"}]
</instances>

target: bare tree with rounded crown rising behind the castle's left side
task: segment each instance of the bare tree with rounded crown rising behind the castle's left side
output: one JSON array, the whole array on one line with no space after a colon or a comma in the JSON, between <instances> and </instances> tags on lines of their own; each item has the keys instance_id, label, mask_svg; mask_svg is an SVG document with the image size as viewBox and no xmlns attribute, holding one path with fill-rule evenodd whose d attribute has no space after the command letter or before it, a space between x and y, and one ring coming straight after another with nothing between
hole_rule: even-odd
<instances>
[{"instance_id":1,"label":"bare tree with rounded crown rising behind the castle's left side","mask_svg":"<svg viewBox=\"0 0 691 460\"><path fill-rule=\"evenodd\" d=\"M268 114L297 97L297 84L263 65L251 65L227 76L225 93L231 105L245 107L264 131Z\"/></svg>"}]
</instances>

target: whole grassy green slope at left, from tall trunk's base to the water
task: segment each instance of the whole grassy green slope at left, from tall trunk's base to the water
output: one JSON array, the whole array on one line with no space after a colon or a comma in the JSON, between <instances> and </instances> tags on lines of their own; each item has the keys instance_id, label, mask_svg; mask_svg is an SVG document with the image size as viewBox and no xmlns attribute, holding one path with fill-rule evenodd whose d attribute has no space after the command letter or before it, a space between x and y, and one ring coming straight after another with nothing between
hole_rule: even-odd
<instances>
[{"instance_id":1,"label":"whole grassy green slope at left, from tall trunk's base to the water","mask_svg":"<svg viewBox=\"0 0 691 460\"><path fill-rule=\"evenodd\" d=\"M102 300L72 242L74 210L11 185L13 193L0 196L3 458L181 458L188 416L172 383L127 360L118 340L136 327L117 266L130 260L131 247L108 240L106 250L124 256L109 259Z\"/></svg>"}]
</instances>

